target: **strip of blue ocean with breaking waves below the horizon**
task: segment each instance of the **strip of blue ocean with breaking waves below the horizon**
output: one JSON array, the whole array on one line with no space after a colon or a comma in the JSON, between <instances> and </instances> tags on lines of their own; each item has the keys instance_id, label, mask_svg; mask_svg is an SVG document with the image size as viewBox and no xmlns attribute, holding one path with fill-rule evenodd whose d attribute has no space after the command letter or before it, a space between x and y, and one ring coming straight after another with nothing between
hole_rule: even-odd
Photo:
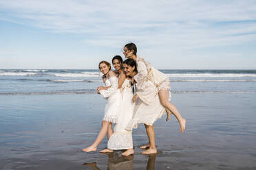
<instances>
[{"instance_id":1,"label":"strip of blue ocean with breaking waves below the horizon","mask_svg":"<svg viewBox=\"0 0 256 170\"><path fill-rule=\"evenodd\" d=\"M161 70L171 93L255 93L256 70ZM96 93L102 86L98 70L0 70L0 95Z\"/></svg>"}]
</instances>

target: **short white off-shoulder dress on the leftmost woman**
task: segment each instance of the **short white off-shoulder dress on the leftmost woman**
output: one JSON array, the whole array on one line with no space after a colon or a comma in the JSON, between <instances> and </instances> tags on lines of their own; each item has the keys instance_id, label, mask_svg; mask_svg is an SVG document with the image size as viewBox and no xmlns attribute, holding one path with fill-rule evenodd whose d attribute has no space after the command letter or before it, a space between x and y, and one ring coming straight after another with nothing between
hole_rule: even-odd
<instances>
[{"instance_id":1,"label":"short white off-shoulder dress on the leftmost woman","mask_svg":"<svg viewBox=\"0 0 256 170\"><path fill-rule=\"evenodd\" d=\"M100 90L100 95L107 99L103 121L116 123L120 114L122 96L118 89L118 78L111 76L105 81L105 86L111 86L107 90Z\"/></svg>"}]
</instances>

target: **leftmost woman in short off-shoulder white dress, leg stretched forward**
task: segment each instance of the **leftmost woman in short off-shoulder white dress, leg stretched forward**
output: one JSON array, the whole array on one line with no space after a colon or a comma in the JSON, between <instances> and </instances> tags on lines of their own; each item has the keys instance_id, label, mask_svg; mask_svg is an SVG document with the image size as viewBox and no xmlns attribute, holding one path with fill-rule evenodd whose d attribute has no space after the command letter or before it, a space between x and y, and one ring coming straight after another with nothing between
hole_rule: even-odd
<instances>
[{"instance_id":1,"label":"leftmost woman in short off-shoulder white dress, leg stretched forward","mask_svg":"<svg viewBox=\"0 0 256 170\"><path fill-rule=\"evenodd\" d=\"M122 96L118 89L118 78L114 71L111 71L111 65L109 62L102 61L98 64L100 72L103 73L103 82L105 86L109 86L106 90L97 88L97 92L107 99L105 106L105 115L102 121L100 132L94 143L89 147L83 149L85 152L96 151L98 144L103 140L108 130L111 130L111 123L116 123L118 120L118 114L120 114L120 106Z\"/></svg>"}]
</instances>

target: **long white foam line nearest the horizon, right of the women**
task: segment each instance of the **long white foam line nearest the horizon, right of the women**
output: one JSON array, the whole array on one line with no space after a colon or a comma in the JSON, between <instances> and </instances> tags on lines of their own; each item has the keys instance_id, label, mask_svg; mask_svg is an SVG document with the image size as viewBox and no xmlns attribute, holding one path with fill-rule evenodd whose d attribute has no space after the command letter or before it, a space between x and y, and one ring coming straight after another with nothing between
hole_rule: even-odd
<instances>
[{"instance_id":1,"label":"long white foam line nearest the horizon, right of the women","mask_svg":"<svg viewBox=\"0 0 256 170\"><path fill-rule=\"evenodd\" d=\"M256 74L243 74L243 73L220 73L220 74L211 74L211 73L200 73L200 74L166 74L168 77L256 77Z\"/></svg>"}]
</instances>

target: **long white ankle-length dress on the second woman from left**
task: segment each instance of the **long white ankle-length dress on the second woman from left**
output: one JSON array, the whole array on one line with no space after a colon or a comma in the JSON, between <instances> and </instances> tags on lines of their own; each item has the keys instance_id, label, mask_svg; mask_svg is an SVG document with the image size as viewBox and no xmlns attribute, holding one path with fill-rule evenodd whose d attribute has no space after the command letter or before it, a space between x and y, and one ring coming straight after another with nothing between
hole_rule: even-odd
<instances>
[{"instance_id":1,"label":"long white ankle-length dress on the second woman from left","mask_svg":"<svg viewBox=\"0 0 256 170\"><path fill-rule=\"evenodd\" d=\"M120 88L122 95L121 112L118 121L114 126L114 134L112 134L107 143L109 149L129 149L133 148L131 131L125 130L125 127L132 119L135 104L132 102L134 97L130 80L125 79Z\"/></svg>"}]
</instances>

